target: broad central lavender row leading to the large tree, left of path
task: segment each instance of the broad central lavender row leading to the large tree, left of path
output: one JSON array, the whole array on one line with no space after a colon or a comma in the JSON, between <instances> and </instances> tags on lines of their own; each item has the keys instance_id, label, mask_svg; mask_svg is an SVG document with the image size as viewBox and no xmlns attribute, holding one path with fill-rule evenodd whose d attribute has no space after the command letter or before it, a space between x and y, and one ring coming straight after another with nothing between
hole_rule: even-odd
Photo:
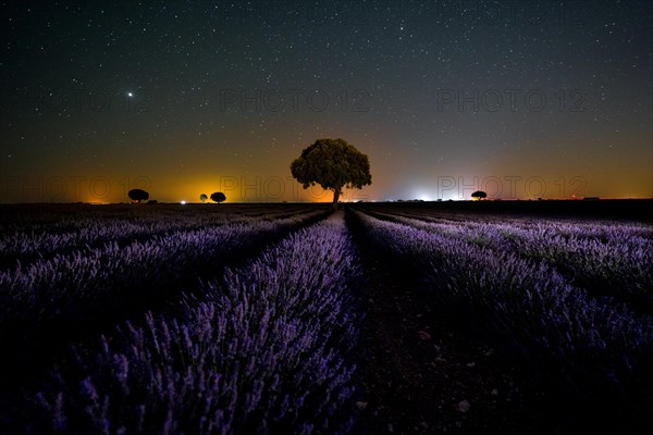
<instances>
[{"instance_id":1,"label":"broad central lavender row leading to the large tree, left of path","mask_svg":"<svg viewBox=\"0 0 653 435\"><path fill-rule=\"evenodd\" d=\"M36 395L44 433L335 434L350 422L358 279L343 215L126 323Z\"/></svg>"}]
</instances>

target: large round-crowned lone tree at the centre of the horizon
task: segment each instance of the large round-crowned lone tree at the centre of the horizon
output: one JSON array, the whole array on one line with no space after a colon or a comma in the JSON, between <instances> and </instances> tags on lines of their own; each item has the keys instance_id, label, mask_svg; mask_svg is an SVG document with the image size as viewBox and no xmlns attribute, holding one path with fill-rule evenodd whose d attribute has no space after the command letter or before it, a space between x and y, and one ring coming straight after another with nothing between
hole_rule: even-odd
<instances>
[{"instance_id":1,"label":"large round-crowned lone tree at the centre of the horizon","mask_svg":"<svg viewBox=\"0 0 653 435\"><path fill-rule=\"evenodd\" d=\"M343 139L318 139L291 164L291 172L305 189L319 184L333 190L333 209L343 188L362 189L372 184L368 157Z\"/></svg>"}]
</instances>

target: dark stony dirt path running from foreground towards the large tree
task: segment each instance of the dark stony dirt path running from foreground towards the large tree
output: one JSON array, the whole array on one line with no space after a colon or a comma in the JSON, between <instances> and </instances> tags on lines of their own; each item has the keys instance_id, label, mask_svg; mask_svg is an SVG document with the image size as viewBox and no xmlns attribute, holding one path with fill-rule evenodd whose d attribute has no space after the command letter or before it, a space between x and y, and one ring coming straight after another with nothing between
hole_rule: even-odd
<instances>
[{"instance_id":1,"label":"dark stony dirt path running from foreground towards the large tree","mask_svg":"<svg viewBox=\"0 0 653 435\"><path fill-rule=\"evenodd\" d=\"M399 264L369 245L348 212L367 307L355 434L534 434L514 371L498 352L429 309Z\"/></svg>"}]
</instances>

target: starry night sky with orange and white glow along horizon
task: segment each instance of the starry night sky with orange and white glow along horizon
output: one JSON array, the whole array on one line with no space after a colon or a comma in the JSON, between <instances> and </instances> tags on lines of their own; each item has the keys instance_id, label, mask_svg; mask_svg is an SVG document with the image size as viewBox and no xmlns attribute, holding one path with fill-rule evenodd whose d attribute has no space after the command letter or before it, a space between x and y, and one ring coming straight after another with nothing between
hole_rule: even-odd
<instances>
[{"instance_id":1,"label":"starry night sky with orange and white glow along horizon","mask_svg":"<svg viewBox=\"0 0 653 435\"><path fill-rule=\"evenodd\" d=\"M48 3L48 4L46 4ZM2 2L0 202L653 197L650 1Z\"/></svg>"}]
</instances>

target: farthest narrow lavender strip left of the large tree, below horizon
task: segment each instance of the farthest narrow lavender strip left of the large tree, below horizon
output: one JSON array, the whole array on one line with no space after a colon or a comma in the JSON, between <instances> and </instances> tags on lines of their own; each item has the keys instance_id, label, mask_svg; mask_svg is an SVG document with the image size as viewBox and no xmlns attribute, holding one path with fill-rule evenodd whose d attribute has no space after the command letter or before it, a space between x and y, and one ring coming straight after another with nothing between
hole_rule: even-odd
<instances>
[{"instance_id":1,"label":"farthest narrow lavender strip left of the large tree, below horizon","mask_svg":"<svg viewBox=\"0 0 653 435\"><path fill-rule=\"evenodd\" d=\"M60 253L71 253L81 247L100 248L145 241L180 231L278 221L308 212L309 208L293 207L274 212L256 207L123 207L106 210L95 207L74 215L61 213L21 214L4 219L0 225L0 270L28 264Z\"/></svg>"}]
</instances>

